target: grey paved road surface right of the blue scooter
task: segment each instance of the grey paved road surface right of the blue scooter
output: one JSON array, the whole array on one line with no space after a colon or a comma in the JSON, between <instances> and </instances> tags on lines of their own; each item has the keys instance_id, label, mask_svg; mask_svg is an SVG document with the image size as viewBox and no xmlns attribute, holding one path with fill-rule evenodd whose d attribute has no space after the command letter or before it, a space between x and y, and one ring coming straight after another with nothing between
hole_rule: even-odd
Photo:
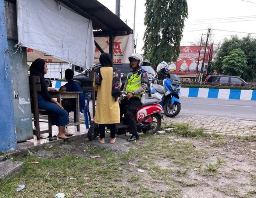
<instances>
[{"instance_id":1,"label":"grey paved road surface right of the blue scooter","mask_svg":"<svg viewBox=\"0 0 256 198\"><path fill-rule=\"evenodd\" d=\"M256 120L256 101L181 98L180 114Z\"/></svg>"}]
</instances>

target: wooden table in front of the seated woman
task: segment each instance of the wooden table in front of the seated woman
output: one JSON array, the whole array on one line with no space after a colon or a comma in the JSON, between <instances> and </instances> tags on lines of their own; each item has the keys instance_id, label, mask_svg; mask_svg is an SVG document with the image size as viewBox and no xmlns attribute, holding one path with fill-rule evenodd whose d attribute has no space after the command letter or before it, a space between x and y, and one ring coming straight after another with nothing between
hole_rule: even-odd
<instances>
[{"instance_id":1,"label":"wooden table in front of the seated woman","mask_svg":"<svg viewBox=\"0 0 256 198\"><path fill-rule=\"evenodd\" d=\"M77 126L77 131L80 131L80 109L79 109L79 94L78 91L49 91L53 98L57 98L58 103L61 104L61 99L75 99L77 122L70 123L67 126ZM75 120L74 120L75 121Z\"/></svg>"}]
</instances>

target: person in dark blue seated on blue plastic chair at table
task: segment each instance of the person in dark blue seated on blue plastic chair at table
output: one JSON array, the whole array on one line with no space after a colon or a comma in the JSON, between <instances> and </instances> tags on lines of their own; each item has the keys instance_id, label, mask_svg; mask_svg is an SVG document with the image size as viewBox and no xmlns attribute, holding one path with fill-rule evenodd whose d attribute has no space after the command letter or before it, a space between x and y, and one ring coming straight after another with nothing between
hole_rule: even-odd
<instances>
[{"instance_id":1,"label":"person in dark blue seated on blue plastic chair at table","mask_svg":"<svg viewBox=\"0 0 256 198\"><path fill-rule=\"evenodd\" d=\"M60 91L78 91L79 93L79 110L80 112L83 112L83 108L85 107L85 100L83 100L83 91L82 88L79 86L77 82L73 80L74 72L71 69L65 70L65 79L68 81L65 85L60 87ZM75 99L68 99L68 104L71 104L71 106L68 106L65 109L70 111L75 111Z\"/></svg>"}]
</instances>

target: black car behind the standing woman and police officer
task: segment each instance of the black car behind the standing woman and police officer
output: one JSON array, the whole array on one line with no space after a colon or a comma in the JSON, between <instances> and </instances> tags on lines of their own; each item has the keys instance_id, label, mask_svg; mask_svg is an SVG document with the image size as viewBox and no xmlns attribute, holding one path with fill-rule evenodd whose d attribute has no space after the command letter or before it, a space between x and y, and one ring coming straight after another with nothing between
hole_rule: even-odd
<instances>
[{"instance_id":1,"label":"black car behind the standing woman and police officer","mask_svg":"<svg viewBox=\"0 0 256 198\"><path fill-rule=\"evenodd\" d=\"M94 65L93 68L97 69L100 66L101 65L99 63ZM121 89L122 89L127 79L127 74L131 72L131 67L129 66L129 63L117 64L117 65L114 65L114 67L119 69L121 72L121 81L122 81ZM142 68L147 71L149 79L152 80L154 78L157 78L157 74L155 70L151 67L151 63L149 65L149 62L143 62ZM92 84L89 81L89 73L90 71L87 69L87 70L84 70L82 73L74 76L74 81L76 81L81 86L84 94L92 91Z\"/></svg>"}]
</instances>

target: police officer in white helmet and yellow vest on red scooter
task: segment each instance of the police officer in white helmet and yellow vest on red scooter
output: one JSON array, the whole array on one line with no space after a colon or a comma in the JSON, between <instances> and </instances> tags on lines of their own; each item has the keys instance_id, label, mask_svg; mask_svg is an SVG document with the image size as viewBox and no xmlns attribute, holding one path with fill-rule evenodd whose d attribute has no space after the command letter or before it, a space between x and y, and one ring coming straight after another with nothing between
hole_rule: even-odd
<instances>
[{"instance_id":1,"label":"police officer in white helmet and yellow vest on red scooter","mask_svg":"<svg viewBox=\"0 0 256 198\"><path fill-rule=\"evenodd\" d=\"M122 115L125 114L125 124L127 123L129 125L130 133L132 133L132 136L127 140L131 142L139 139L134 115L141 106L141 94L145 93L149 79L147 72L140 67L140 64L143 62L140 54L132 54L128 59L132 72L127 75L123 90L128 94L124 99L121 99L120 111L121 120ZM126 105L127 109L125 108Z\"/></svg>"}]
</instances>

